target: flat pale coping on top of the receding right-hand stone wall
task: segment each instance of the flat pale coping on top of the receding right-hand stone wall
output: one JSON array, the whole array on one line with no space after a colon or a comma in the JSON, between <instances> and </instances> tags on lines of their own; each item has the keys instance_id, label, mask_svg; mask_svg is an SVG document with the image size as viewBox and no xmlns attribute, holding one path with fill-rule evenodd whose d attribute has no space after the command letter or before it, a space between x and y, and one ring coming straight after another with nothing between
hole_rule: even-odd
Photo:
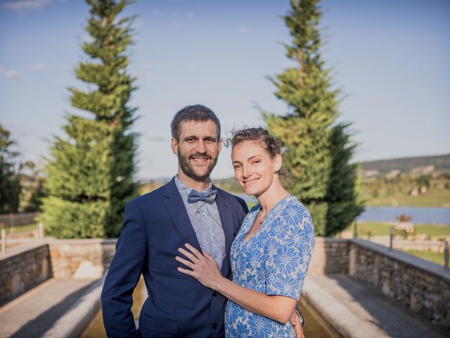
<instances>
[{"instance_id":1,"label":"flat pale coping on top of the receding right-hand stone wall","mask_svg":"<svg viewBox=\"0 0 450 338\"><path fill-rule=\"evenodd\" d=\"M444 272L443 265L425 261L425 259L413 256L410 253L399 251L397 249L390 250L387 246L373 243L366 239L348 239L348 241L350 243L363 246L366 249L381 253L382 255L392 258L401 263L412 265L414 268L425 271L425 273L432 273L433 275L442 278L446 282L450 282L450 273Z\"/></svg>"}]
</instances>

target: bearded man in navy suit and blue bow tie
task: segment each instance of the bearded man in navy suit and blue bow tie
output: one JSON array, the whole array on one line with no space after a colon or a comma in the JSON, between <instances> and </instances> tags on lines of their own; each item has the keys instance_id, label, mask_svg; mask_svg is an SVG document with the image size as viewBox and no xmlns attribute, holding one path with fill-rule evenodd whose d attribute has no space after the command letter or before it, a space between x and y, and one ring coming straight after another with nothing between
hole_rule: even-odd
<instances>
[{"instance_id":1,"label":"bearded man in navy suit and blue bow tie","mask_svg":"<svg viewBox=\"0 0 450 338\"><path fill-rule=\"evenodd\" d=\"M125 208L101 296L108 337L224 337L226 299L179 273L175 256L179 247L193 244L231 278L229 251L248 208L211 184L222 146L217 116L205 106L187 106L171 127L176 177ZM148 299L136 332L131 304L141 274Z\"/></svg>"}]
</instances>

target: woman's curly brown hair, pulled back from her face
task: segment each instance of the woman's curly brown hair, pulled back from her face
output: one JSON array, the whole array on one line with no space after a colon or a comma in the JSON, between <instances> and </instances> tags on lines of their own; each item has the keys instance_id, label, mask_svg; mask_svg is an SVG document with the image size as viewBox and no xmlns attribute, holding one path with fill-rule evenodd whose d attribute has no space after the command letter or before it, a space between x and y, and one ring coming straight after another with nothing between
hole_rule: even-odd
<instances>
[{"instance_id":1,"label":"woman's curly brown hair, pulled back from her face","mask_svg":"<svg viewBox=\"0 0 450 338\"><path fill-rule=\"evenodd\" d=\"M279 139L273 137L267 130L262 127L259 128L244 128L241 130L236 130L231 132L233 136L231 139L226 140L226 146L231 145L233 149L236 145L244 141L254 141L257 142L262 148L269 154L270 158L275 158L275 156L283 155L283 144ZM282 178L283 185L290 182L290 175L284 168L278 170L278 175Z\"/></svg>"}]
</instances>

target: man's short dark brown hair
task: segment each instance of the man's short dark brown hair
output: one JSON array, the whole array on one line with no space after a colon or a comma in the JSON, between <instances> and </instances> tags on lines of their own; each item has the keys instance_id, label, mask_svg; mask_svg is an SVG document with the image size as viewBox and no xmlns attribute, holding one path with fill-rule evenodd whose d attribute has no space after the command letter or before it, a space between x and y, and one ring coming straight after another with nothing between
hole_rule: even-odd
<instances>
[{"instance_id":1,"label":"man's short dark brown hair","mask_svg":"<svg viewBox=\"0 0 450 338\"><path fill-rule=\"evenodd\" d=\"M202 106L201 104L194 104L193 106L186 106L175 114L170 123L172 129L172 137L176 139L176 142L180 141L181 123L184 121L212 121L217 127L217 140L220 139L220 122L214 111L210 108Z\"/></svg>"}]
</instances>

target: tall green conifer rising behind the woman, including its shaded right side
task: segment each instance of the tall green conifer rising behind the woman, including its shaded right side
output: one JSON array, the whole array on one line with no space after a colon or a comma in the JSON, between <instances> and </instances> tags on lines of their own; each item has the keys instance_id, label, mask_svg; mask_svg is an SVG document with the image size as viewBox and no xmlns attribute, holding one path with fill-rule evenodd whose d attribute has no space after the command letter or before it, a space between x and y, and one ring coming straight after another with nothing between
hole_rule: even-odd
<instances>
[{"instance_id":1,"label":"tall green conifer rising behind the woman, including its shaded right side","mask_svg":"<svg viewBox=\"0 0 450 338\"><path fill-rule=\"evenodd\" d=\"M293 40L285 48L295 66L271 79L288 113L263 115L269 131L286 146L290 192L309 208L316 234L330 235L345 228L362 209L354 189L356 166L349 164L354 145L349 144L347 125L333 126L340 92L331 88L330 70L321 59L318 2L290 1L292 8L283 18ZM338 189L345 184L340 196Z\"/></svg>"}]
</instances>

